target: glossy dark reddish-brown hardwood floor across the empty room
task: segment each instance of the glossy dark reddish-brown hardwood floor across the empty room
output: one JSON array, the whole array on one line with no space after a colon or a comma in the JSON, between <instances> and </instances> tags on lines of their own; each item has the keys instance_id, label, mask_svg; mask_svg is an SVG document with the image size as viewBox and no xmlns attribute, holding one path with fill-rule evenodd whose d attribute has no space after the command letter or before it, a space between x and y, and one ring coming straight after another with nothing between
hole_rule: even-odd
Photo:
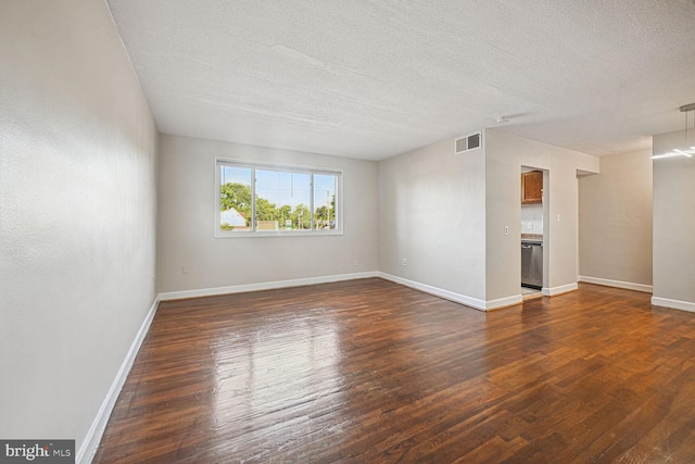
<instances>
[{"instance_id":1,"label":"glossy dark reddish-brown hardwood floor across the empty room","mask_svg":"<svg viewBox=\"0 0 695 464\"><path fill-rule=\"evenodd\" d=\"M96 463L695 462L695 314L381 279L163 302Z\"/></svg>"}]
</instances>

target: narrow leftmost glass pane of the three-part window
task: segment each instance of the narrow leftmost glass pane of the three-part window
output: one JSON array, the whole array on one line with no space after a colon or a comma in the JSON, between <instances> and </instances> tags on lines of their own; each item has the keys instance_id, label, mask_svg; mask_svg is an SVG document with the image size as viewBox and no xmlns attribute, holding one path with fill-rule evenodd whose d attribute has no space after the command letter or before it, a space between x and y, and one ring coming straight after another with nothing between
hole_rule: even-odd
<instances>
[{"instance_id":1,"label":"narrow leftmost glass pane of the three-part window","mask_svg":"<svg viewBox=\"0 0 695 464\"><path fill-rule=\"evenodd\" d=\"M251 229L251 168L219 166L219 226L223 230Z\"/></svg>"}]
</instances>

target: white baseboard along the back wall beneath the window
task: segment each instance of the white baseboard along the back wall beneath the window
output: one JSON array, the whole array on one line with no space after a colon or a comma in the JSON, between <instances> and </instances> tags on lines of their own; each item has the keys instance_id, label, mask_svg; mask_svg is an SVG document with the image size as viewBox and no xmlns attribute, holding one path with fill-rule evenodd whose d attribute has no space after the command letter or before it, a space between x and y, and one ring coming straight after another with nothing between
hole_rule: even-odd
<instances>
[{"instance_id":1,"label":"white baseboard along the back wall beneath the window","mask_svg":"<svg viewBox=\"0 0 695 464\"><path fill-rule=\"evenodd\" d=\"M305 285L328 284L332 281L354 280L378 277L376 271L366 273L338 274L332 276L307 277L291 280L264 281L258 284L232 285L229 287L201 288L198 290L165 291L159 294L160 301L184 298L213 297L216 294L242 293L245 291L274 290L277 288L302 287Z\"/></svg>"}]
</instances>

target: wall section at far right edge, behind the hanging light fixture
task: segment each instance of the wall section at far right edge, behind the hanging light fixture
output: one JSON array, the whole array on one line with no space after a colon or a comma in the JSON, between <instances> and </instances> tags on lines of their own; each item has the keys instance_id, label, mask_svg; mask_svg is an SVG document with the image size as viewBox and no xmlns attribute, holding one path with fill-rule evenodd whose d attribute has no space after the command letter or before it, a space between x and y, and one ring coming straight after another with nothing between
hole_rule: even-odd
<instances>
[{"instance_id":1,"label":"wall section at far right edge, behind the hanging light fixture","mask_svg":"<svg viewBox=\"0 0 695 464\"><path fill-rule=\"evenodd\" d=\"M695 130L687 140L695 146ZM655 154L682 148L682 130L653 137ZM653 303L695 311L695 159L653 161Z\"/></svg>"}]
</instances>

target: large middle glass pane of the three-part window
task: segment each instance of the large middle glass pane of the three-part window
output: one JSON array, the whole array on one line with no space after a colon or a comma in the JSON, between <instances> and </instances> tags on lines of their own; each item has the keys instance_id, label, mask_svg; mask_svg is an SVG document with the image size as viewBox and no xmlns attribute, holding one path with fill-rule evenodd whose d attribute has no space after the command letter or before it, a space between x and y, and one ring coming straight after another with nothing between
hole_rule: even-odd
<instances>
[{"instance_id":1,"label":"large middle glass pane of the three-part window","mask_svg":"<svg viewBox=\"0 0 695 464\"><path fill-rule=\"evenodd\" d=\"M312 183L308 173L256 170L256 230L306 230Z\"/></svg>"}]
</instances>

